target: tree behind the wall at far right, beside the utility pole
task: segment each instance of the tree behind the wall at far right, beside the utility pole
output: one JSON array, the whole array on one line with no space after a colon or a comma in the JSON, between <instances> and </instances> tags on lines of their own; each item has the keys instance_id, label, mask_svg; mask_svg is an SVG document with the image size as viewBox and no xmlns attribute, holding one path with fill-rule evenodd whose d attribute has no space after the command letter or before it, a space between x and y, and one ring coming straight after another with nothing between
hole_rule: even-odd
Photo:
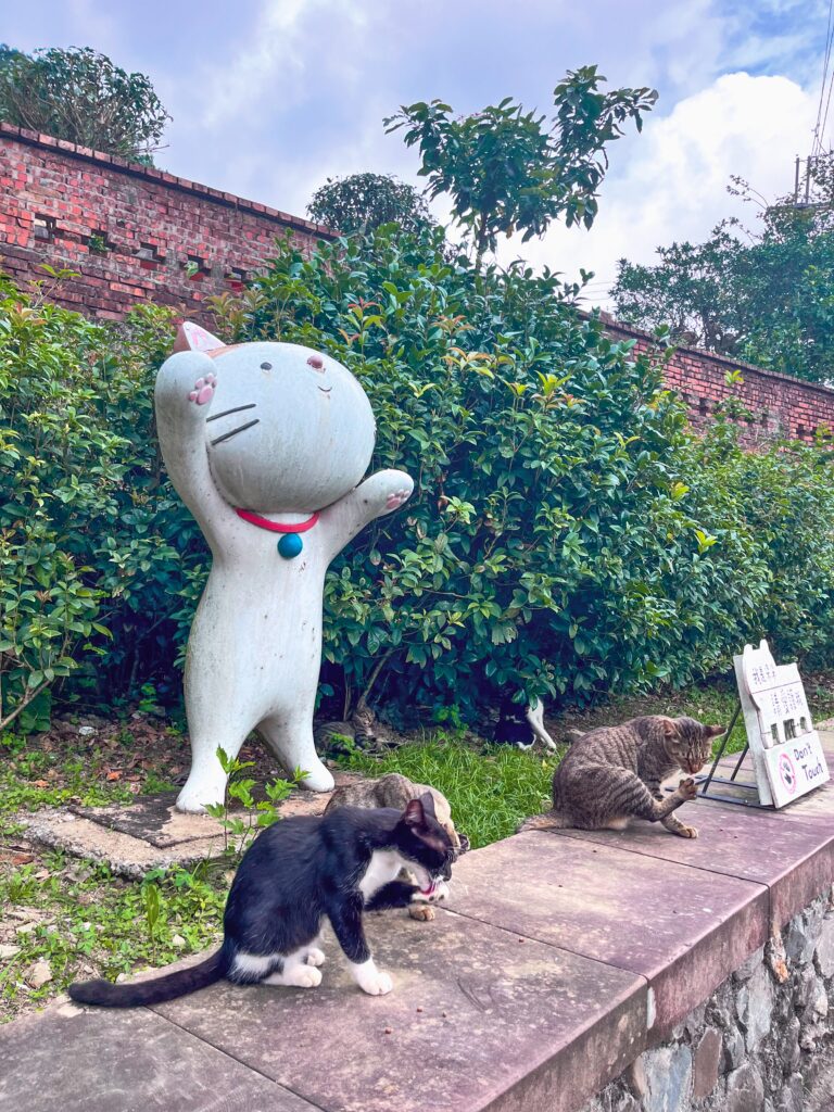
<instances>
[{"instance_id":1,"label":"tree behind the wall at far right, beside the utility pole","mask_svg":"<svg viewBox=\"0 0 834 1112\"><path fill-rule=\"evenodd\" d=\"M620 259L610 295L623 320L668 325L673 340L795 375L834 378L834 155L811 167L810 200L764 205L762 228L724 220L704 244L657 249L659 264ZM754 199L741 178L731 192Z\"/></svg>"}]
</instances>

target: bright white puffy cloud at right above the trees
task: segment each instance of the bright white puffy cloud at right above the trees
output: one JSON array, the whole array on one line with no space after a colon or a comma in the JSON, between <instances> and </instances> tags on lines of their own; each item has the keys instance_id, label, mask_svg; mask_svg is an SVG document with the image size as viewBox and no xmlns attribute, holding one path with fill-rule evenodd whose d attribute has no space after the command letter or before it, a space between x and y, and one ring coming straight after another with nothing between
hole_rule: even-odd
<instances>
[{"instance_id":1,"label":"bright white puffy cloud at right above the trees","mask_svg":"<svg viewBox=\"0 0 834 1112\"><path fill-rule=\"evenodd\" d=\"M815 99L784 77L724 75L613 148L589 232L555 227L542 241L507 245L504 261L518 254L572 278L579 267L593 270L588 300L605 304L617 259L652 262L657 247L698 242L733 215L755 226L755 210L726 192L729 177L741 175L768 200L790 192L795 156L811 141Z\"/></svg>"}]
</instances>

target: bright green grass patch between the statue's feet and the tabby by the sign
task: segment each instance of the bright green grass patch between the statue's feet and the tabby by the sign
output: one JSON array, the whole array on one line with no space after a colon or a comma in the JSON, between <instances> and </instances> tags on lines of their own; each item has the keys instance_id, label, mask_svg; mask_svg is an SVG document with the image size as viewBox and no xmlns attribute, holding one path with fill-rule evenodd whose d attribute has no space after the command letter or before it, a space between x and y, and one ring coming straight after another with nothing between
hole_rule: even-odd
<instances>
[{"instance_id":1,"label":"bright green grass patch between the statue's feet and the tabby by the sign","mask_svg":"<svg viewBox=\"0 0 834 1112\"><path fill-rule=\"evenodd\" d=\"M451 805L455 826L477 850L514 834L527 815L548 805L558 758L507 745L478 751L463 737L438 729L383 756L357 752L340 764L368 776L398 772L436 787Z\"/></svg>"}]
</instances>

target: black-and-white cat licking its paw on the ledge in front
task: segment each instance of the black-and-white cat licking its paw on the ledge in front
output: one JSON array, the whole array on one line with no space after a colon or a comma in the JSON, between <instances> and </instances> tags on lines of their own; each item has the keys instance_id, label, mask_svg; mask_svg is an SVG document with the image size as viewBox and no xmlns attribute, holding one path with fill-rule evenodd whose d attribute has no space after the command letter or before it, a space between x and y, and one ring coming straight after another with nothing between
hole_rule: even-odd
<instances>
[{"instance_id":1,"label":"black-and-white cat licking its paw on the ledge in front","mask_svg":"<svg viewBox=\"0 0 834 1112\"><path fill-rule=\"evenodd\" d=\"M285 818L260 833L244 855L216 953L190 969L133 984L80 982L69 994L80 1004L135 1007L224 977L311 989L321 982L319 942L328 919L356 983L371 996L383 995L391 979L374 962L363 912L445 898L454 858L428 793L404 810L339 807ZM404 867L416 884L397 880Z\"/></svg>"}]
</instances>

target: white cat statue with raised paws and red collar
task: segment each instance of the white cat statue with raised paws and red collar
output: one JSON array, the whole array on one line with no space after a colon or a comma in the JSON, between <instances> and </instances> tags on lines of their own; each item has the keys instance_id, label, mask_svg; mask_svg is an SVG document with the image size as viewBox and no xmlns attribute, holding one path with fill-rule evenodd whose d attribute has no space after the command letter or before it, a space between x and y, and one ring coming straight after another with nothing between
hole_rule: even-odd
<instances>
[{"instance_id":1,"label":"white cat statue with raised paws and red collar","mask_svg":"<svg viewBox=\"0 0 834 1112\"><path fill-rule=\"evenodd\" d=\"M214 556L188 639L191 771L177 807L222 801L217 749L237 755L256 728L307 787L329 791L312 742L325 573L414 484L385 470L357 486L374 450L370 403L311 348L227 347L187 322L157 376L156 411L171 483Z\"/></svg>"}]
</instances>

